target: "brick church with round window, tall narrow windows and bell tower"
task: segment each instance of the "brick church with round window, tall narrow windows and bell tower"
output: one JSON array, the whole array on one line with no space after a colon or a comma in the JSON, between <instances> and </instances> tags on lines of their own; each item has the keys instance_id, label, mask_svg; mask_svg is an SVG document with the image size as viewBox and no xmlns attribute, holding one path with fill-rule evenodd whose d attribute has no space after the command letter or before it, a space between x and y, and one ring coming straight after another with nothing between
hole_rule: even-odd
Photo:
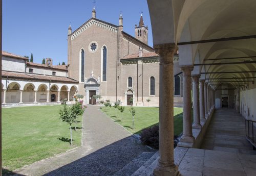
<instances>
[{"instance_id":1,"label":"brick church with round window, tall narrow windows and bell tower","mask_svg":"<svg viewBox=\"0 0 256 176\"><path fill-rule=\"evenodd\" d=\"M130 105L133 98L134 106L159 106L159 56L147 38L142 15L135 36L131 36L123 31L122 15L116 26L97 19L95 8L92 18L74 32L69 27L68 74L79 81L78 93L84 95L86 104L92 104L96 94L103 100L120 100L122 105ZM178 74L178 56L174 63L174 73ZM180 106L182 77L177 78L174 102Z\"/></svg>"}]
</instances>

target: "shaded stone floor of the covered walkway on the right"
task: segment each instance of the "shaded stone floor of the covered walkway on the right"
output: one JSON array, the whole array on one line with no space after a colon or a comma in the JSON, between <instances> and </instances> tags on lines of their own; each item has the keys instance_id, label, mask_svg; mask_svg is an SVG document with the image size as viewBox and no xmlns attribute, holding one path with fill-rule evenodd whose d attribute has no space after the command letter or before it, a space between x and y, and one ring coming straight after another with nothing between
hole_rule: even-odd
<instances>
[{"instance_id":1,"label":"shaded stone floor of the covered walkway on the right","mask_svg":"<svg viewBox=\"0 0 256 176\"><path fill-rule=\"evenodd\" d=\"M201 148L256 155L245 139L244 118L227 108L216 109Z\"/></svg>"}]
</instances>

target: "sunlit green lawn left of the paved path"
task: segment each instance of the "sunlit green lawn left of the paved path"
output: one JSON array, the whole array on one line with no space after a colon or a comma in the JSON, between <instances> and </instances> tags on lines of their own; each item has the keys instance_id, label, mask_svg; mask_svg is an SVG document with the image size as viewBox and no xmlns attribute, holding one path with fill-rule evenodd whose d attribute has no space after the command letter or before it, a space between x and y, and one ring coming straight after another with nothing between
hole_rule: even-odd
<instances>
[{"instance_id":1,"label":"sunlit green lawn left of the paved path","mask_svg":"<svg viewBox=\"0 0 256 176\"><path fill-rule=\"evenodd\" d=\"M81 145L82 118L70 146L69 125L59 119L59 108L2 108L3 168L14 170Z\"/></svg>"}]
</instances>

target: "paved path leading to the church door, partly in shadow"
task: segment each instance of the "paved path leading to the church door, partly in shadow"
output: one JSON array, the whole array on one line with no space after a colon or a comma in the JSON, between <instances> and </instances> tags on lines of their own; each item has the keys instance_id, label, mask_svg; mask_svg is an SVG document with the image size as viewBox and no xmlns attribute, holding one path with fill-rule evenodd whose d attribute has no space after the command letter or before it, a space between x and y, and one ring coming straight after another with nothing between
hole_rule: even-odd
<instances>
[{"instance_id":1,"label":"paved path leading to the church door, partly in shadow","mask_svg":"<svg viewBox=\"0 0 256 176\"><path fill-rule=\"evenodd\" d=\"M83 146L15 170L16 175L113 175L151 149L99 110L83 115Z\"/></svg>"}]
</instances>

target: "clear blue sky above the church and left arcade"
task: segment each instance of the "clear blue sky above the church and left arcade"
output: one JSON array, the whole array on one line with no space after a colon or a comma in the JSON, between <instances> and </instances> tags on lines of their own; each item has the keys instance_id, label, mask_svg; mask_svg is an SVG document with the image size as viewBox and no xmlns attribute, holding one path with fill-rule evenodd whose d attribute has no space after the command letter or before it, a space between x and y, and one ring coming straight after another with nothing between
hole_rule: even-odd
<instances>
[{"instance_id":1,"label":"clear blue sky above the church and left arcade","mask_svg":"<svg viewBox=\"0 0 256 176\"><path fill-rule=\"evenodd\" d=\"M146 0L96 0L96 17L118 24L134 36L135 23L143 12L149 28L148 44L153 45ZM92 16L93 0L3 0L3 51L20 56L33 52L34 62L52 58L53 64L67 63L67 34L71 22L75 31Z\"/></svg>"}]
</instances>

